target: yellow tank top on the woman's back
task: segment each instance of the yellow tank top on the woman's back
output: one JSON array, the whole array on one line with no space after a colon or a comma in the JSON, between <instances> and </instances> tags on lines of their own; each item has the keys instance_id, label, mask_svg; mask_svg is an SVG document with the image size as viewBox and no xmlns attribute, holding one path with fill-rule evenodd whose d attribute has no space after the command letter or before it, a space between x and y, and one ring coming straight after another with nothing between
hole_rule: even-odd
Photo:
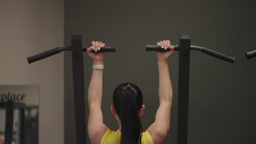
<instances>
[{"instance_id":1,"label":"yellow tank top on the woman's back","mask_svg":"<svg viewBox=\"0 0 256 144\"><path fill-rule=\"evenodd\" d=\"M119 129L117 131L107 129L101 139L101 144L120 144L120 140L121 131ZM148 130L142 133L141 142L142 144L154 144Z\"/></svg>"}]
</instances>

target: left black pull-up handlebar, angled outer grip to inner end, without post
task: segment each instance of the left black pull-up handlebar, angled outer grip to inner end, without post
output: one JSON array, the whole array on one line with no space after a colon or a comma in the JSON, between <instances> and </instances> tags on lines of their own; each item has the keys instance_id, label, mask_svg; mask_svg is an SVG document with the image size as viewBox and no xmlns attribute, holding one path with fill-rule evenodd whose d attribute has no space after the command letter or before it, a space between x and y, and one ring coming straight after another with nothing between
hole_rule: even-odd
<instances>
[{"instance_id":1,"label":"left black pull-up handlebar, angled outer grip to inner end, without post","mask_svg":"<svg viewBox=\"0 0 256 144\"><path fill-rule=\"evenodd\" d=\"M83 51L86 52L86 49L88 49L90 47L90 45L86 45L86 46L82 46L82 47L83 47ZM48 50L48 51L45 51L42 53L38 53L37 55L27 57L27 62L33 63L33 62L39 61L40 59L44 59L46 57L53 56L62 51L71 51L71 50L72 50L71 46L56 47L55 49L51 49L51 50ZM115 52L115 46L104 46L104 47L101 47L101 50L99 50L97 52Z\"/></svg>"}]
</instances>

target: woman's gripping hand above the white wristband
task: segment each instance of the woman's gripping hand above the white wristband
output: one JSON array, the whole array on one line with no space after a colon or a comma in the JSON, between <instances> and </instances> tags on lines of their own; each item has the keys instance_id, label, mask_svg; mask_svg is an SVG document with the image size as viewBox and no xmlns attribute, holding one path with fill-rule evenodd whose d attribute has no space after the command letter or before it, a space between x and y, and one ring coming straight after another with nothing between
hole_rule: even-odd
<instances>
[{"instance_id":1,"label":"woman's gripping hand above the white wristband","mask_svg":"<svg viewBox=\"0 0 256 144\"><path fill-rule=\"evenodd\" d=\"M94 64L103 64L104 63L104 52L97 52L104 47L105 44L101 41L91 41L91 47L87 49L87 54L92 58ZM95 52L93 52L95 51ZM97 53L96 53L97 52Z\"/></svg>"}]
</instances>

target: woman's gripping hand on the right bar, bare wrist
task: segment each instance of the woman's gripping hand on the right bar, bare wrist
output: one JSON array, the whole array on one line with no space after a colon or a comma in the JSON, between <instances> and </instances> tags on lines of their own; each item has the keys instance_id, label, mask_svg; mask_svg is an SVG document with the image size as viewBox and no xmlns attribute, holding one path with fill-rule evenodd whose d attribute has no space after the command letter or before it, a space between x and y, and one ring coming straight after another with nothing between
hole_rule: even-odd
<instances>
[{"instance_id":1,"label":"woman's gripping hand on the right bar, bare wrist","mask_svg":"<svg viewBox=\"0 0 256 144\"><path fill-rule=\"evenodd\" d=\"M162 49L170 49L170 51L158 52L158 61L168 61L168 58L170 58L174 53L174 47L171 45L171 41L161 40L156 44Z\"/></svg>"}]
</instances>

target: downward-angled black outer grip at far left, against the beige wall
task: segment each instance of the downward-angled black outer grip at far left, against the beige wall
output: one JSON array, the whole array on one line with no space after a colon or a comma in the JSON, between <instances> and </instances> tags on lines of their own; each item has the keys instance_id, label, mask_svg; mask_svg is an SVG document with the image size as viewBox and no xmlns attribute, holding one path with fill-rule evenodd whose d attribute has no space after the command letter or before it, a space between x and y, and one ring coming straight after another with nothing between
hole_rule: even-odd
<instances>
[{"instance_id":1,"label":"downward-angled black outer grip at far left, against the beige wall","mask_svg":"<svg viewBox=\"0 0 256 144\"><path fill-rule=\"evenodd\" d=\"M39 61L40 59L53 56L53 55L55 55L57 53L60 53L60 52L61 52L60 47L56 47L55 49L51 49L51 50L39 53L39 54L34 55L32 57L27 57L27 62L28 63L33 63L33 62Z\"/></svg>"}]
</instances>

